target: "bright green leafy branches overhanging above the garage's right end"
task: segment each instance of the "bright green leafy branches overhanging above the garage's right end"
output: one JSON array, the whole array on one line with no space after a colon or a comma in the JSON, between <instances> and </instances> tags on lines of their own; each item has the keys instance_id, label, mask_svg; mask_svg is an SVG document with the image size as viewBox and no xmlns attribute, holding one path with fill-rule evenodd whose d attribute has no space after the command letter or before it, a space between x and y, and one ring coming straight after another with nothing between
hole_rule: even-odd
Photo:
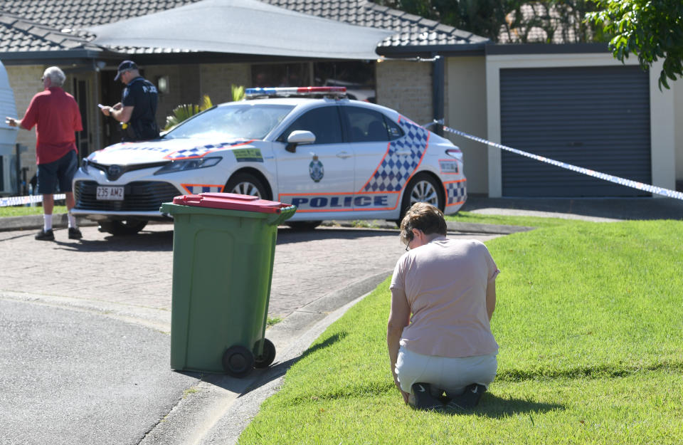
<instances>
[{"instance_id":1,"label":"bright green leafy branches overhanging above the garage's right end","mask_svg":"<svg viewBox=\"0 0 683 445\"><path fill-rule=\"evenodd\" d=\"M586 21L604 26L613 36L610 51L619 61L636 53L643 69L664 59L662 85L683 75L683 1L681 0L595 0L600 11L586 14Z\"/></svg>"}]
</instances>

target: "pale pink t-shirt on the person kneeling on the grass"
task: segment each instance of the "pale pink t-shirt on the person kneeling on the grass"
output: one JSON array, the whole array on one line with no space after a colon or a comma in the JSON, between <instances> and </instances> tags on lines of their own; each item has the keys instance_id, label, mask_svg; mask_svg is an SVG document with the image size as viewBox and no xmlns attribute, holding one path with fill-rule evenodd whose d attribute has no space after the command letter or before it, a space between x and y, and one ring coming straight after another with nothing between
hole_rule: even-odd
<instances>
[{"instance_id":1,"label":"pale pink t-shirt on the person kneeling on the grass","mask_svg":"<svg viewBox=\"0 0 683 445\"><path fill-rule=\"evenodd\" d=\"M403 290L411 307L401 346L439 357L496 353L486 288L498 273L489 250L477 240L438 236L403 254L389 286Z\"/></svg>"}]
</instances>

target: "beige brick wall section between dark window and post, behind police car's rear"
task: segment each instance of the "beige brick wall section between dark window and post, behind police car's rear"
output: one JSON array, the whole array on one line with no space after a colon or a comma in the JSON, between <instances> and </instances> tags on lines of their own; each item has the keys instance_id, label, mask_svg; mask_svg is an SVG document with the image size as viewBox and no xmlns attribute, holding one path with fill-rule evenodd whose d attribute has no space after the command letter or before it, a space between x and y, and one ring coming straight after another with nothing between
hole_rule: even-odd
<instances>
[{"instance_id":1,"label":"beige brick wall section between dark window and post, behind police car's rear","mask_svg":"<svg viewBox=\"0 0 683 445\"><path fill-rule=\"evenodd\" d=\"M432 110L432 63L383 61L376 64L377 103L423 124Z\"/></svg>"}]
</instances>

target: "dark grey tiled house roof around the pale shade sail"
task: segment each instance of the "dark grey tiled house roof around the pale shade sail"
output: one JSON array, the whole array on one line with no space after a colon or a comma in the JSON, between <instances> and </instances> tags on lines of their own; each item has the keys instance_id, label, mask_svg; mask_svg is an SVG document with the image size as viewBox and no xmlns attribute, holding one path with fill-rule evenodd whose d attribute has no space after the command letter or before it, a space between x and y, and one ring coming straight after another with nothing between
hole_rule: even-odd
<instances>
[{"instance_id":1,"label":"dark grey tiled house roof around the pale shade sail","mask_svg":"<svg viewBox=\"0 0 683 445\"><path fill-rule=\"evenodd\" d=\"M89 46L95 36L83 31L133 17L196 3L198 0L5 0L0 4L0 52L68 51ZM312 16L351 25L396 31L379 43L377 52L443 51L447 47L480 49L487 38L367 0L260 0ZM255 20L258 21L258 20ZM28 30L26 29L28 28ZM40 34L44 33L43 36ZM466 48L467 47L467 48ZM112 46L122 53L172 53L178 48Z\"/></svg>"}]
</instances>

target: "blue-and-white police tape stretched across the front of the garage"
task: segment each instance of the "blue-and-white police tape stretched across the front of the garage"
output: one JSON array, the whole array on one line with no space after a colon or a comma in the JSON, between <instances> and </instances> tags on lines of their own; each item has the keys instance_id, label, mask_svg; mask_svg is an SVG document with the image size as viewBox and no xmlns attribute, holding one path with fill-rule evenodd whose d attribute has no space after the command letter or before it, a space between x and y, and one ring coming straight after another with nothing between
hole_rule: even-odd
<instances>
[{"instance_id":1,"label":"blue-and-white police tape stretched across the front of the garage","mask_svg":"<svg viewBox=\"0 0 683 445\"><path fill-rule=\"evenodd\" d=\"M423 126L424 127L431 127L432 125L435 125L435 124L443 125L443 120L435 120L435 121L430 122L427 125L423 125ZM443 125L443 130L450 132L450 133L453 133L454 135L467 137L467 139L475 140L477 142L481 142L482 144L486 144L486 145L489 145L491 147L496 147L496 148L499 148L502 150L507 150L508 152L513 152L517 155L530 157L531 159L535 159L536 161L546 162L546 164L551 164L551 165L554 165L556 167L561 167L563 169L572 170L573 172L586 174L588 176L598 178L598 179L603 179L605 181L614 182L615 184L623 185L625 187L631 187L632 189L643 190L645 192L650 192L650 193L654 193L654 194L661 194L661 195L663 195L665 197L669 197L669 198L683 199L683 193L682 192L676 192L675 190L669 190L669 189L665 189L663 187L656 187L654 185L644 184L642 182L637 182L637 181L632 181L631 179L625 179L622 177L613 176L612 174L595 172L595 170L585 169L583 167L577 167L576 165L567 164L566 162L556 161L555 159L549 159L547 157L534 155L533 153L529 153L529 152L523 152L521 150L517 150L516 148L507 147L506 145L497 144L496 142L491 142L489 140L485 140L482 137L477 137L474 135L470 135L466 132L462 132L460 130L455 130L455 128L447 127L446 125Z\"/></svg>"}]
</instances>

